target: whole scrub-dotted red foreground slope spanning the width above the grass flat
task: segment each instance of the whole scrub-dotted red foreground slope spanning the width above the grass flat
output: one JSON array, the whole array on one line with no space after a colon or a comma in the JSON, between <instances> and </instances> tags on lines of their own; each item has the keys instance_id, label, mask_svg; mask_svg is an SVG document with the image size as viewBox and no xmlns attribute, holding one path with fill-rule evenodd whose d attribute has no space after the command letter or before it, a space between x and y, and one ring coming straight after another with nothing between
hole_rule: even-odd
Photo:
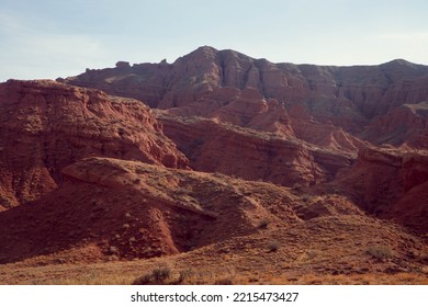
<instances>
[{"instance_id":1,"label":"whole scrub-dotted red foreground slope spanning the width above the grass flat","mask_svg":"<svg viewBox=\"0 0 428 307\"><path fill-rule=\"evenodd\" d=\"M168 261L185 252L185 265L198 270L228 263L299 275L410 272L427 260L420 237L338 194L300 196L269 183L111 158L85 159L64 173L56 191L0 214L1 263ZM379 247L387 254L376 255Z\"/></svg>"}]
</instances>

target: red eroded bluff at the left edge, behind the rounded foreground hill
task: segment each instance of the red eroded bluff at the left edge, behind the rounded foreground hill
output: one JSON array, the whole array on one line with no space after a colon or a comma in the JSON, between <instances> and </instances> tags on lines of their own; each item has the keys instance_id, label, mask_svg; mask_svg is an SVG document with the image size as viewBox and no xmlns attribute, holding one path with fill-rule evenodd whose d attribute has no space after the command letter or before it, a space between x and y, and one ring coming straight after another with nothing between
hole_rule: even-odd
<instances>
[{"instance_id":1,"label":"red eroded bluff at the left edge, behind the rounded foreground hill","mask_svg":"<svg viewBox=\"0 0 428 307\"><path fill-rule=\"evenodd\" d=\"M147 106L99 90L10 80L0 84L0 121L3 208L52 191L60 170L86 157L188 163Z\"/></svg>"}]
</instances>

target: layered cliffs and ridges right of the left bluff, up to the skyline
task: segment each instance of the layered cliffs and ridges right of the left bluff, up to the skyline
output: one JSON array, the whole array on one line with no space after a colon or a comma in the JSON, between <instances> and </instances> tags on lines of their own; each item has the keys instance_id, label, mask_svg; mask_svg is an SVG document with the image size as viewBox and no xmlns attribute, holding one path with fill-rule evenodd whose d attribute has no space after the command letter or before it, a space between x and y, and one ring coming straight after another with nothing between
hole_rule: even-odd
<instances>
[{"instance_id":1,"label":"layered cliffs and ridges right of the left bluff, up to the skyline","mask_svg":"<svg viewBox=\"0 0 428 307\"><path fill-rule=\"evenodd\" d=\"M196 170L285 186L330 182L380 215L402 212L427 181L427 66L273 64L205 46L173 64L122 65L63 81L161 109L165 133ZM406 158L415 152L418 162Z\"/></svg>"}]
</instances>

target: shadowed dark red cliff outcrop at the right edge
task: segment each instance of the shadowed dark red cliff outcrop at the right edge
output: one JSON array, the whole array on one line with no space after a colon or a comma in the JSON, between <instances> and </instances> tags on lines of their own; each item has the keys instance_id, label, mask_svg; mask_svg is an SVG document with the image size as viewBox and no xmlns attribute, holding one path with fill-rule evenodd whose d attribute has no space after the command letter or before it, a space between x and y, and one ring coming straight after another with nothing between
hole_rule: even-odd
<instances>
[{"instance_id":1,"label":"shadowed dark red cliff outcrop at the right edge","mask_svg":"<svg viewBox=\"0 0 428 307\"><path fill-rule=\"evenodd\" d=\"M428 231L426 150L361 148L356 163L333 184L364 211Z\"/></svg>"}]
</instances>

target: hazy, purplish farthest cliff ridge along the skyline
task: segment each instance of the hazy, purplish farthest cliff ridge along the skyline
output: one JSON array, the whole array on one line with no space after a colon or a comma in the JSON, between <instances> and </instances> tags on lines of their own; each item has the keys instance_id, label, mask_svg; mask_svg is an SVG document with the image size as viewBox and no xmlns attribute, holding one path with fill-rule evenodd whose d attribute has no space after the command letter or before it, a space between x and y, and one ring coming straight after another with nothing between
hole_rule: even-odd
<instances>
[{"instance_id":1,"label":"hazy, purplish farthest cliff ridge along the skyline","mask_svg":"<svg viewBox=\"0 0 428 307\"><path fill-rule=\"evenodd\" d=\"M215 110L222 110L221 114L234 112L234 98L250 88L268 105L282 105L292 118L291 127L293 122L312 120L363 139L367 136L370 141L394 145L402 144L403 138L388 137L386 129L373 139L370 129L365 133L365 126L379 124L379 116L403 104L428 100L428 68L405 60L353 67L273 64L207 46L173 64L117 65L61 81L137 98L153 107L184 107L179 112L190 115L193 111L193 115L203 116L212 116ZM232 105L225 107L228 103ZM233 116L219 118L248 124ZM382 122L390 124L387 118ZM420 132L414 133L413 137L418 138Z\"/></svg>"}]
</instances>

